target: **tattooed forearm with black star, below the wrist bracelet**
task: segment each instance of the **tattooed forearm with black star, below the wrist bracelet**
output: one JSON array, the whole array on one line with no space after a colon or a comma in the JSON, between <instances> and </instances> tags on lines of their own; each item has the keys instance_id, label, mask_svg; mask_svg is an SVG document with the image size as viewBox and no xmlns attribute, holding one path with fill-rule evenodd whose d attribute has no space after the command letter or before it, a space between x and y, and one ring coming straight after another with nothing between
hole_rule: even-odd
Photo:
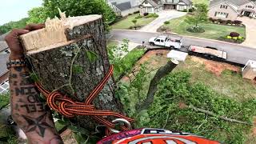
<instances>
[{"instance_id":1,"label":"tattooed forearm with black star, below the wrist bracelet","mask_svg":"<svg viewBox=\"0 0 256 144\"><path fill-rule=\"evenodd\" d=\"M10 68L10 94L14 121L29 139L38 140L30 143L62 143L54 128L50 109L40 100L26 67Z\"/></svg>"}]
</instances>

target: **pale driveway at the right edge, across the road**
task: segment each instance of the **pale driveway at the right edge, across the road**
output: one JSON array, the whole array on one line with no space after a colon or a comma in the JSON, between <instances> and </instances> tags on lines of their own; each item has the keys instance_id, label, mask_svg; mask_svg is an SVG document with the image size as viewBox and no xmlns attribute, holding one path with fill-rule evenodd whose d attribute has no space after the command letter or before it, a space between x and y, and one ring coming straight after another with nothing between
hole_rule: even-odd
<instances>
[{"instance_id":1,"label":"pale driveway at the right edge, across the road","mask_svg":"<svg viewBox=\"0 0 256 144\"><path fill-rule=\"evenodd\" d=\"M246 41L242 42L241 45L256 48L256 19L238 17L238 20L242 21L242 23L246 25Z\"/></svg>"}]
</instances>

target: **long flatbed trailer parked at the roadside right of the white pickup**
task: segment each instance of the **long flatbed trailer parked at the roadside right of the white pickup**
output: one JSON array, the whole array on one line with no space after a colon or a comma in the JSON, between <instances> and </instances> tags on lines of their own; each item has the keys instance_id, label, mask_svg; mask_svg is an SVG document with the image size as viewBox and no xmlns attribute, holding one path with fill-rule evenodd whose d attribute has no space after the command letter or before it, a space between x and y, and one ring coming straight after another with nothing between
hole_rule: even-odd
<instances>
[{"instance_id":1,"label":"long flatbed trailer parked at the roadside right of the white pickup","mask_svg":"<svg viewBox=\"0 0 256 144\"><path fill-rule=\"evenodd\" d=\"M188 51L193 54L202 54L202 56L208 58L221 58L225 60L227 58L227 54L225 51L213 49L211 47L190 45Z\"/></svg>"}]
</instances>

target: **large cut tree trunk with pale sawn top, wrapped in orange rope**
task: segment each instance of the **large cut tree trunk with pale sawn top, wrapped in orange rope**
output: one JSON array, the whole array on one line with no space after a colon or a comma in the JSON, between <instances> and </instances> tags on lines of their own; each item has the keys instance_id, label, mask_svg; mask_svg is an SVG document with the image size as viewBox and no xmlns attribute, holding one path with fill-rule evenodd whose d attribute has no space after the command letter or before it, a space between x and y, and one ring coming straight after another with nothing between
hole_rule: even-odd
<instances>
[{"instance_id":1,"label":"large cut tree trunk with pale sawn top, wrapped in orange rope","mask_svg":"<svg viewBox=\"0 0 256 144\"><path fill-rule=\"evenodd\" d=\"M78 102L85 101L110 68L100 15L47 20L45 29L24 34L21 39L42 86L49 91L59 90ZM92 54L96 54L95 59L90 58ZM114 88L111 77L93 102L98 110L123 112ZM98 125L89 116L76 116L72 122L89 130Z\"/></svg>"}]
</instances>

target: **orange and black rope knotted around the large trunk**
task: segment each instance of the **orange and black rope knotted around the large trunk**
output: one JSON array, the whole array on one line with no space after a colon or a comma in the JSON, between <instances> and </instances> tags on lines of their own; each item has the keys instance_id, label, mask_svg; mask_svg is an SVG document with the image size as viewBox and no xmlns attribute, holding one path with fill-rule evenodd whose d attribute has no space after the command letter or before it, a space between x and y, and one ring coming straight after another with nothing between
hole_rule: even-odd
<instances>
[{"instance_id":1,"label":"orange and black rope knotted around the large trunk","mask_svg":"<svg viewBox=\"0 0 256 144\"><path fill-rule=\"evenodd\" d=\"M35 85L38 87L38 90L47 98L47 103L51 109L58 111L60 114L64 115L67 118L72 118L75 115L90 115L96 121L104 124L108 128L114 128L114 123L108 122L106 116L114 116L116 118L124 118L129 122L134 122L134 119L127 118L122 114L115 113L110 110L96 110L92 101L97 95L101 92L103 87L106 85L106 82L113 74L113 66L110 66L110 70L104 76L102 81L94 88L94 90L86 98L85 102L74 102L72 99L68 98L66 95L59 93L58 91L49 92L44 89L42 84L36 82ZM128 130L126 126L121 126L122 130ZM106 129L106 134L110 134L110 130Z\"/></svg>"}]
</instances>

